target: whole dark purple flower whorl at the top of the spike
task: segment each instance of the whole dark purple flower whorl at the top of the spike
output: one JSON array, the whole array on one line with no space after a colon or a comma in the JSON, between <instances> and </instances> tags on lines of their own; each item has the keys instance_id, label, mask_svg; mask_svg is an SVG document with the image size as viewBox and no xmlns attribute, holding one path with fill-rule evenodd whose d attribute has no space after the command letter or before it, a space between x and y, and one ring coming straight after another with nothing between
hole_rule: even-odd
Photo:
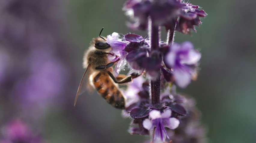
<instances>
[{"instance_id":1,"label":"whole dark purple flower whorl at the top of the spike","mask_svg":"<svg viewBox=\"0 0 256 143\"><path fill-rule=\"evenodd\" d=\"M177 22L176 30L190 34L190 29L196 31L194 25L201 24L199 17L207 16L204 10L198 8L198 5L179 0L129 0L123 10L134 21L129 24L132 29L146 30L150 17L154 25L165 26L166 30L175 28Z\"/></svg>"}]
</instances>

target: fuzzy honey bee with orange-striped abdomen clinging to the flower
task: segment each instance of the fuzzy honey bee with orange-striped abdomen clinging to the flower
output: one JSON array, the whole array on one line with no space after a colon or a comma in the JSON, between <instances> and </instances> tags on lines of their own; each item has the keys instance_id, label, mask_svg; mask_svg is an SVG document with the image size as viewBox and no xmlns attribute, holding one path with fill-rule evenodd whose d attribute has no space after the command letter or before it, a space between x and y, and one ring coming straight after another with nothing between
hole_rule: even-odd
<instances>
[{"instance_id":1,"label":"fuzzy honey bee with orange-striped abdomen clinging to the flower","mask_svg":"<svg viewBox=\"0 0 256 143\"><path fill-rule=\"evenodd\" d=\"M104 28L102 28L103 30ZM124 109L125 96L119 90L118 84L124 84L131 82L133 78L140 76L138 73L132 73L130 76L119 74L114 77L112 74L113 65L120 59L114 62L108 60L108 55L114 56L114 53L109 53L112 49L106 42L105 37L101 36L102 30L99 33L99 37L93 38L91 46L84 53L83 66L86 68L84 75L78 87L78 91L75 97L75 103L79 95L85 92L86 88L93 87L100 96L102 96L106 102L118 109ZM87 77L89 76L89 78ZM88 80L88 82L86 82Z\"/></svg>"}]
</instances>

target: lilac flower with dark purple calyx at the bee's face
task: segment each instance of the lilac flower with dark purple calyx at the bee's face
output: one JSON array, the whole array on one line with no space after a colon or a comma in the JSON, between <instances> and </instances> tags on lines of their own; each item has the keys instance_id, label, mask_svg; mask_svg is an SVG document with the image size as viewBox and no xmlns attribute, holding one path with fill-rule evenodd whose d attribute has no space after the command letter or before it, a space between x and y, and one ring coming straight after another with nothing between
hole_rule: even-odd
<instances>
[{"instance_id":1,"label":"lilac flower with dark purple calyx at the bee's face","mask_svg":"<svg viewBox=\"0 0 256 143\"><path fill-rule=\"evenodd\" d=\"M108 55L108 60L113 62L120 58L115 67L115 76L126 65L126 60L134 70L146 69L152 71L160 68L162 59L159 55L156 55L157 53L152 53L151 55L158 56L158 58L152 58L150 57L151 55L148 56L148 40L142 38L142 36L126 34L123 40L119 38L118 33L113 33L107 37L107 42L112 48L110 52L114 53L114 56Z\"/></svg>"}]
</instances>

